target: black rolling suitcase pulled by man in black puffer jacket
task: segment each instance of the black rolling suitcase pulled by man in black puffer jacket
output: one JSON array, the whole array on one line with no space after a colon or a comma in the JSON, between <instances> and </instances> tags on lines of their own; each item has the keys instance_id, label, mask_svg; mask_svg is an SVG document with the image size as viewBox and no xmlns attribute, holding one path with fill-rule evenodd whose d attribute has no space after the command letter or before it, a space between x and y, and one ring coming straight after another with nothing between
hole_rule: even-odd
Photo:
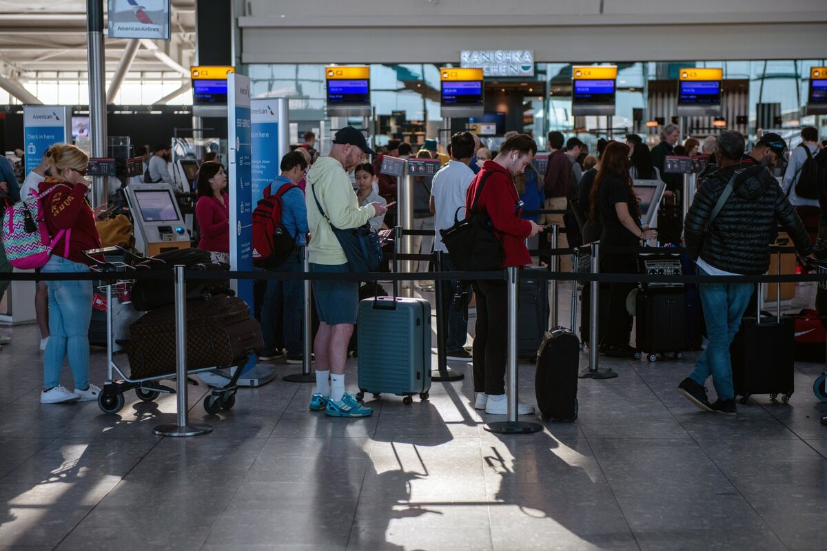
<instances>
[{"instance_id":1,"label":"black rolling suitcase pulled by man in black puffer jacket","mask_svg":"<svg viewBox=\"0 0 827 551\"><path fill-rule=\"evenodd\" d=\"M762 292L763 285L758 283L758 297ZM735 394L742 397L741 403L753 394L769 394L772 400L782 394L786 403L796 390L796 322L781 315L780 302L776 316L760 311L760 306L759 299L756 316L741 319L729 345Z\"/></svg>"}]
</instances>

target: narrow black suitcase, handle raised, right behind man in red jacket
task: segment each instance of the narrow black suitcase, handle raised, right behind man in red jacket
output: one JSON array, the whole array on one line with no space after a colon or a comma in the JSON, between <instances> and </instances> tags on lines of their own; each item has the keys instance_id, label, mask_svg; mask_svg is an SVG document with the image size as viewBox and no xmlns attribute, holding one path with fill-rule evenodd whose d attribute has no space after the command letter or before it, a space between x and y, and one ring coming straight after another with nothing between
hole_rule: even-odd
<instances>
[{"instance_id":1,"label":"narrow black suitcase, handle raised, right behind man in red jacket","mask_svg":"<svg viewBox=\"0 0 827 551\"><path fill-rule=\"evenodd\" d=\"M576 325L577 285L571 285L571 328ZM577 419L577 375L580 370L580 340L571 330L556 327L543 335L537 353L534 392L544 420Z\"/></svg>"}]
</instances>

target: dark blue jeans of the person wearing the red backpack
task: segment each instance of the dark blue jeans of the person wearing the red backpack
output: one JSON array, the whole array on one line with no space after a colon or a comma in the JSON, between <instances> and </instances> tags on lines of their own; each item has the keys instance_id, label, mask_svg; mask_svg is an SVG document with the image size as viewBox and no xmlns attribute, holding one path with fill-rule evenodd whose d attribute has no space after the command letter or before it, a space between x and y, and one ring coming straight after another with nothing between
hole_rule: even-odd
<instances>
[{"instance_id":1,"label":"dark blue jeans of the person wearing the red backpack","mask_svg":"<svg viewBox=\"0 0 827 551\"><path fill-rule=\"evenodd\" d=\"M273 272L301 272L302 263L299 254L290 254L287 260ZM261 306L261 333L264 336L262 355L275 354L275 326L277 316L282 313L282 330L284 348L288 356L302 354L302 305L304 301L304 282L268 279L264 303Z\"/></svg>"}]
</instances>

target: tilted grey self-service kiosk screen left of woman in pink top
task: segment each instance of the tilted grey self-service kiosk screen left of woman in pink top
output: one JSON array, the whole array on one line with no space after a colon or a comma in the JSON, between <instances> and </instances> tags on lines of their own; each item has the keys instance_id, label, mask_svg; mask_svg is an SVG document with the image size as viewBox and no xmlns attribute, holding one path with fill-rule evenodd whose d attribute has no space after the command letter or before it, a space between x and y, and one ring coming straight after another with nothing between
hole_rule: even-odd
<instances>
[{"instance_id":1,"label":"tilted grey self-service kiosk screen left of woman in pink top","mask_svg":"<svg viewBox=\"0 0 827 551\"><path fill-rule=\"evenodd\" d=\"M133 183L127 186L127 203L135 225L135 246L147 256L174 249L189 249L172 186L166 183Z\"/></svg>"}]
</instances>

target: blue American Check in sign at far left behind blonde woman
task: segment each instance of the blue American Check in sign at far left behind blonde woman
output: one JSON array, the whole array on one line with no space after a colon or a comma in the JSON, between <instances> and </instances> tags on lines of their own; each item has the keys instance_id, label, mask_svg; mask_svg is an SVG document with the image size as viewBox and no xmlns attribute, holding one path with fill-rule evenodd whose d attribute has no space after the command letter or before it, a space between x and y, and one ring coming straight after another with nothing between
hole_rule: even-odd
<instances>
[{"instance_id":1,"label":"blue American Check in sign at far left behind blonde woman","mask_svg":"<svg viewBox=\"0 0 827 551\"><path fill-rule=\"evenodd\" d=\"M51 145L72 143L71 107L23 106L23 138L28 174Z\"/></svg>"}]
</instances>

